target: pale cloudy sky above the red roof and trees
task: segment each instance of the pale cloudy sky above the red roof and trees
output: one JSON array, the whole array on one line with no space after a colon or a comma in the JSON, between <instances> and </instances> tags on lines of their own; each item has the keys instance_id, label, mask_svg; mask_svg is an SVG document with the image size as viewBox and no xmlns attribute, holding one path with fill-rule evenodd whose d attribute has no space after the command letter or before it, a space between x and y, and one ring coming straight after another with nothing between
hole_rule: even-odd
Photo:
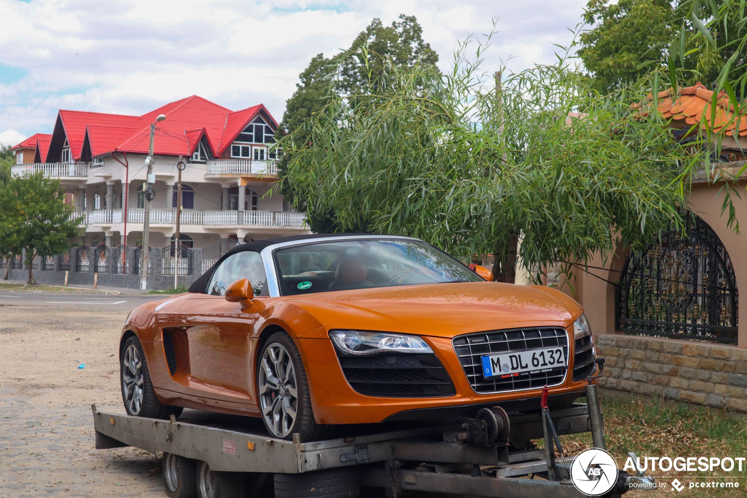
<instances>
[{"instance_id":1,"label":"pale cloudy sky above the red roof and trees","mask_svg":"<svg viewBox=\"0 0 747 498\"><path fill-rule=\"evenodd\" d=\"M552 63L586 0L0 0L0 143L51 133L58 109L141 115L190 95L276 120L314 55L375 17L415 15L439 66L469 34L498 34L484 68ZM509 57L512 57L509 59Z\"/></svg>"}]
</instances>

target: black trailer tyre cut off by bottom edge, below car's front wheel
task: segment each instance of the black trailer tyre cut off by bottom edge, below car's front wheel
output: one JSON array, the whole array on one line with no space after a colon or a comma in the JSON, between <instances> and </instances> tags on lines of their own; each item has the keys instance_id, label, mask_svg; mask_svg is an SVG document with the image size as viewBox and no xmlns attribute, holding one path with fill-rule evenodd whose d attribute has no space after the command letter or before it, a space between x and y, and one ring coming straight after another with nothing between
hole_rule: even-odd
<instances>
[{"instance_id":1,"label":"black trailer tyre cut off by bottom edge, below car's front wheel","mask_svg":"<svg viewBox=\"0 0 747 498\"><path fill-rule=\"evenodd\" d=\"M275 498L358 498L361 480L356 468L275 474Z\"/></svg>"}]
</instances>

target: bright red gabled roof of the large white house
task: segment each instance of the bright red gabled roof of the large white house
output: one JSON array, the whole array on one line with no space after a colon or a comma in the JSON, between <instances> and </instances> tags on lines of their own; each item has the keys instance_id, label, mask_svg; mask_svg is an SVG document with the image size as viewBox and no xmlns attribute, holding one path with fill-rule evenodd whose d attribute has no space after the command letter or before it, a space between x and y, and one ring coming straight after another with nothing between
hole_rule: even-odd
<instances>
[{"instance_id":1,"label":"bright red gabled roof of the large white house","mask_svg":"<svg viewBox=\"0 0 747 498\"><path fill-rule=\"evenodd\" d=\"M204 135L210 152L215 157L220 157L241 130L260 113L273 128L277 127L277 122L264 105L233 112L193 95L170 102L143 116L61 110L58 125L55 125L55 131L48 137L52 140L55 153L62 149L66 138L75 159L81 158L85 140L86 153L92 156L110 152L147 154L150 124L159 114L164 114L166 119L155 124L155 154L192 155L197 140Z\"/></svg>"}]
</instances>

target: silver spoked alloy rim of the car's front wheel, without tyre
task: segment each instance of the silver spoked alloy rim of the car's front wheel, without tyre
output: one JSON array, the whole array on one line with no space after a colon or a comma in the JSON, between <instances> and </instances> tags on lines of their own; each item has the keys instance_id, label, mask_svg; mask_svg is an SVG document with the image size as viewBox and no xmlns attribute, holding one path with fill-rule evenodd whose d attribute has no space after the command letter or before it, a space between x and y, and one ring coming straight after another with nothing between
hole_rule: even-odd
<instances>
[{"instance_id":1,"label":"silver spoked alloy rim of the car's front wheel, without tyre","mask_svg":"<svg viewBox=\"0 0 747 498\"><path fill-rule=\"evenodd\" d=\"M296 369L280 343L264 350L259 366L259 405L267 429L276 438L291 433L298 410Z\"/></svg>"}]
</instances>

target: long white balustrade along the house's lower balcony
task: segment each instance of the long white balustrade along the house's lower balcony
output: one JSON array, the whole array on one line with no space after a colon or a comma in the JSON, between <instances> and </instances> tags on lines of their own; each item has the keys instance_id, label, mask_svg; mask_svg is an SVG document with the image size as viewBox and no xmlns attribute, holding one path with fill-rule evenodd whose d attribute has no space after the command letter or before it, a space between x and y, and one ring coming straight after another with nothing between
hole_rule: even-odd
<instances>
[{"instance_id":1,"label":"long white balustrade along the house's lower balcony","mask_svg":"<svg viewBox=\"0 0 747 498\"><path fill-rule=\"evenodd\" d=\"M142 223L145 220L144 209L128 209L128 223ZM75 212L73 216L83 215L83 225L114 225L123 222L121 209L97 209L85 213ZM150 210L151 225L174 225L176 209ZM297 226L303 227L306 214L291 211L182 211L181 225L261 225L261 226Z\"/></svg>"}]
</instances>

